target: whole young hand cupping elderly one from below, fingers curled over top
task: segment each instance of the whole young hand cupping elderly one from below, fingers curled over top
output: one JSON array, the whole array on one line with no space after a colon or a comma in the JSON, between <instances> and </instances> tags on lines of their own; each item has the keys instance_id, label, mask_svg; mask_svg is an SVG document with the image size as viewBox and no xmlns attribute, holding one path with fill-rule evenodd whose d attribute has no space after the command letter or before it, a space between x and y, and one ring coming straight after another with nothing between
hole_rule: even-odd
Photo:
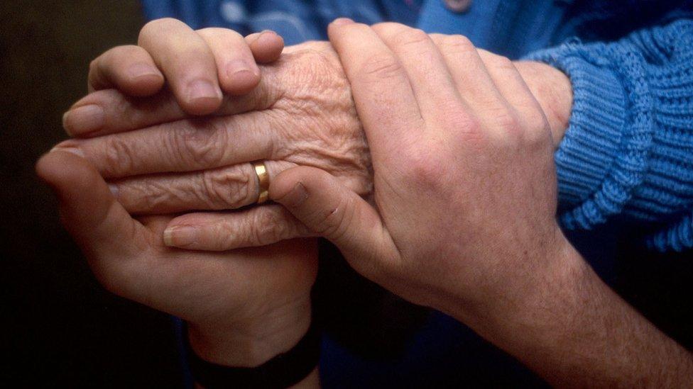
<instances>
[{"instance_id":1,"label":"whole young hand cupping elderly one from below, fingers curled over top","mask_svg":"<svg viewBox=\"0 0 693 389\"><path fill-rule=\"evenodd\" d=\"M178 33L190 33L200 38L180 22L163 21L160 26L165 26L168 38L175 36L173 30L176 28ZM226 62L236 63L239 58L229 59L234 55L245 56L241 58L245 64L253 60L249 47L253 49L253 43L257 45L258 40L263 39L256 37L251 40L251 36L244 40L229 30L204 31L200 34L218 33L225 38L227 46L219 47L219 50L226 57L217 59L220 69ZM143 32L143 35L146 34ZM170 41L163 43L175 44ZM274 40L270 46L269 49L264 47L264 54L263 50L254 47L253 54L256 57L265 55L266 60L271 60L267 53L274 51L277 57L281 40ZM158 49L153 47L150 50L156 52ZM217 84L214 62L204 62L204 58L195 57L194 51L180 55L187 55L192 62L198 61L200 67L212 67L211 71L194 74L168 65L162 69L169 79L168 87L180 92L179 101L181 96L183 99L188 96L183 77L188 77L187 80L191 76L193 79L206 77L213 85ZM140 96L166 95L168 91L157 92L163 86L163 77L153 66L153 62L158 60L160 58L150 57L141 47L110 50L93 62L90 89L116 86ZM204 63L200 64L200 60ZM254 61L253 66L256 67ZM133 77L131 71L141 71L143 67L149 70L144 75ZM175 72L182 74L179 77ZM243 84L244 77L241 77L240 84L237 74L225 81L223 76L220 77L222 89L241 93L241 89L248 88ZM192 81L192 84L199 84L199 81ZM258 81L259 77L251 80L251 84ZM90 96L104 93L109 92L97 91ZM221 93L216 102L213 98L193 98L187 103L187 106L182 104L187 111L204 111L210 104L221 103ZM78 119L80 115L77 113ZM73 119L67 115L66 122L68 128L76 133L99 124L94 120ZM85 119L84 115L82 119ZM108 128L102 127L81 134L95 136L107 132ZM102 138L94 138L97 139ZM57 147L40 159L36 170L38 176L54 189L60 200L63 224L105 288L116 295L181 317L187 321L190 343L195 352L208 361L223 365L258 366L291 349L303 337L311 322L310 290L317 274L314 240L285 241L234 252L170 248L163 240L163 231L174 216L151 211L147 216L133 218L116 201L106 181L95 169L94 162L84 159L84 155L79 149Z\"/></svg>"}]
</instances>

